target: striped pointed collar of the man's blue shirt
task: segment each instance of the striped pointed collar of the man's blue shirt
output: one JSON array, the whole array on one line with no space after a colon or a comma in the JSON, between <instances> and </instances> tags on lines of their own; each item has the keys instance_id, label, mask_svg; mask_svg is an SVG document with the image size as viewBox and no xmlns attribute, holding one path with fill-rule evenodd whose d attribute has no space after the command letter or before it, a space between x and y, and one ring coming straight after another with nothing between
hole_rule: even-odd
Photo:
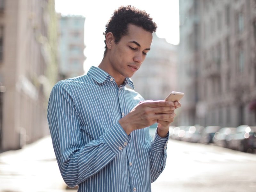
<instances>
[{"instance_id":1,"label":"striped pointed collar of the man's blue shirt","mask_svg":"<svg viewBox=\"0 0 256 192\"><path fill-rule=\"evenodd\" d=\"M89 71L87 72L87 75L92 77L95 81L97 81L98 83L103 83L106 81L107 77L110 76L106 71L92 66ZM128 84L129 86L132 87L132 89L134 89L134 85L132 82L131 78L126 77L124 80L124 86Z\"/></svg>"}]
</instances>

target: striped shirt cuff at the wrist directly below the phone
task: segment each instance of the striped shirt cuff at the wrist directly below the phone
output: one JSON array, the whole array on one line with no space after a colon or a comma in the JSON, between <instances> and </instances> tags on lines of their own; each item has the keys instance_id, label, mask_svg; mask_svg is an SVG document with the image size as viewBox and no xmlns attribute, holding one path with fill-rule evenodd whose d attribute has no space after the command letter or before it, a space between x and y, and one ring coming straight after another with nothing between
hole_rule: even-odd
<instances>
[{"instance_id":1,"label":"striped shirt cuff at the wrist directly below the phone","mask_svg":"<svg viewBox=\"0 0 256 192\"><path fill-rule=\"evenodd\" d=\"M157 129L156 129L155 137L151 145L152 150L156 152L163 152L167 148L168 140L169 140L169 132L167 133L166 137L162 138L157 134Z\"/></svg>"}]
</instances>

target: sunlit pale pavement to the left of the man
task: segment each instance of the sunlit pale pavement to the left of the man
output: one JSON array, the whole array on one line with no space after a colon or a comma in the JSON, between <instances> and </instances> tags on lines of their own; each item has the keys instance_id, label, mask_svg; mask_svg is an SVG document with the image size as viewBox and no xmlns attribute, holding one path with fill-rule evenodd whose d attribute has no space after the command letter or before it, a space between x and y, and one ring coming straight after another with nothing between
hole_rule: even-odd
<instances>
[{"instance_id":1,"label":"sunlit pale pavement to the left of the man","mask_svg":"<svg viewBox=\"0 0 256 192\"><path fill-rule=\"evenodd\" d=\"M66 191L50 136L20 150L0 153L0 192L30 191Z\"/></svg>"}]
</instances>

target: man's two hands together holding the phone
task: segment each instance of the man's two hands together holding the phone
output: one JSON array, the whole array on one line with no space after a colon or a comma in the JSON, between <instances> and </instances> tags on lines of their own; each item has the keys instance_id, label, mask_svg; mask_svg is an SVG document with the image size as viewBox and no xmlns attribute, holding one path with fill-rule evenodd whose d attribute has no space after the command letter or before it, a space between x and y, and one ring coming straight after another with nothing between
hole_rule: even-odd
<instances>
[{"instance_id":1,"label":"man's two hands together holding the phone","mask_svg":"<svg viewBox=\"0 0 256 192\"><path fill-rule=\"evenodd\" d=\"M174 105L172 101L164 100L141 101L129 114L120 119L119 123L123 127L124 131L129 135L134 130L148 127L157 122L158 135L160 137L165 137L169 131L169 125L172 123L173 118L176 115L174 113L174 109L178 107L180 107L179 102Z\"/></svg>"}]
</instances>

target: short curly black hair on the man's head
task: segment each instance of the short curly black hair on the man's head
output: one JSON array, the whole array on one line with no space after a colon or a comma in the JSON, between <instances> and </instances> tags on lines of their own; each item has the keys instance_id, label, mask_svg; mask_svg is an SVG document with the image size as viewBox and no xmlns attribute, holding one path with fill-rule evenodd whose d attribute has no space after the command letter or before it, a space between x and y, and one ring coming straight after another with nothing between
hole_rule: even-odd
<instances>
[{"instance_id":1,"label":"short curly black hair on the man's head","mask_svg":"<svg viewBox=\"0 0 256 192\"><path fill-rule=\"evenodd\" d=\"M115 43L117 44L121 37L127 35L128 24L133 24L142 27L146 31L151 33L156 32L157 25L149 16L146 11L139 10L131 5L121 6L114 11L112 17L106 24L106 30L103 35L106 37L108 32L112 32L115 37ZM107 52L107 44L105 42L105 52Z\"/></svg>"}]
</instances>

